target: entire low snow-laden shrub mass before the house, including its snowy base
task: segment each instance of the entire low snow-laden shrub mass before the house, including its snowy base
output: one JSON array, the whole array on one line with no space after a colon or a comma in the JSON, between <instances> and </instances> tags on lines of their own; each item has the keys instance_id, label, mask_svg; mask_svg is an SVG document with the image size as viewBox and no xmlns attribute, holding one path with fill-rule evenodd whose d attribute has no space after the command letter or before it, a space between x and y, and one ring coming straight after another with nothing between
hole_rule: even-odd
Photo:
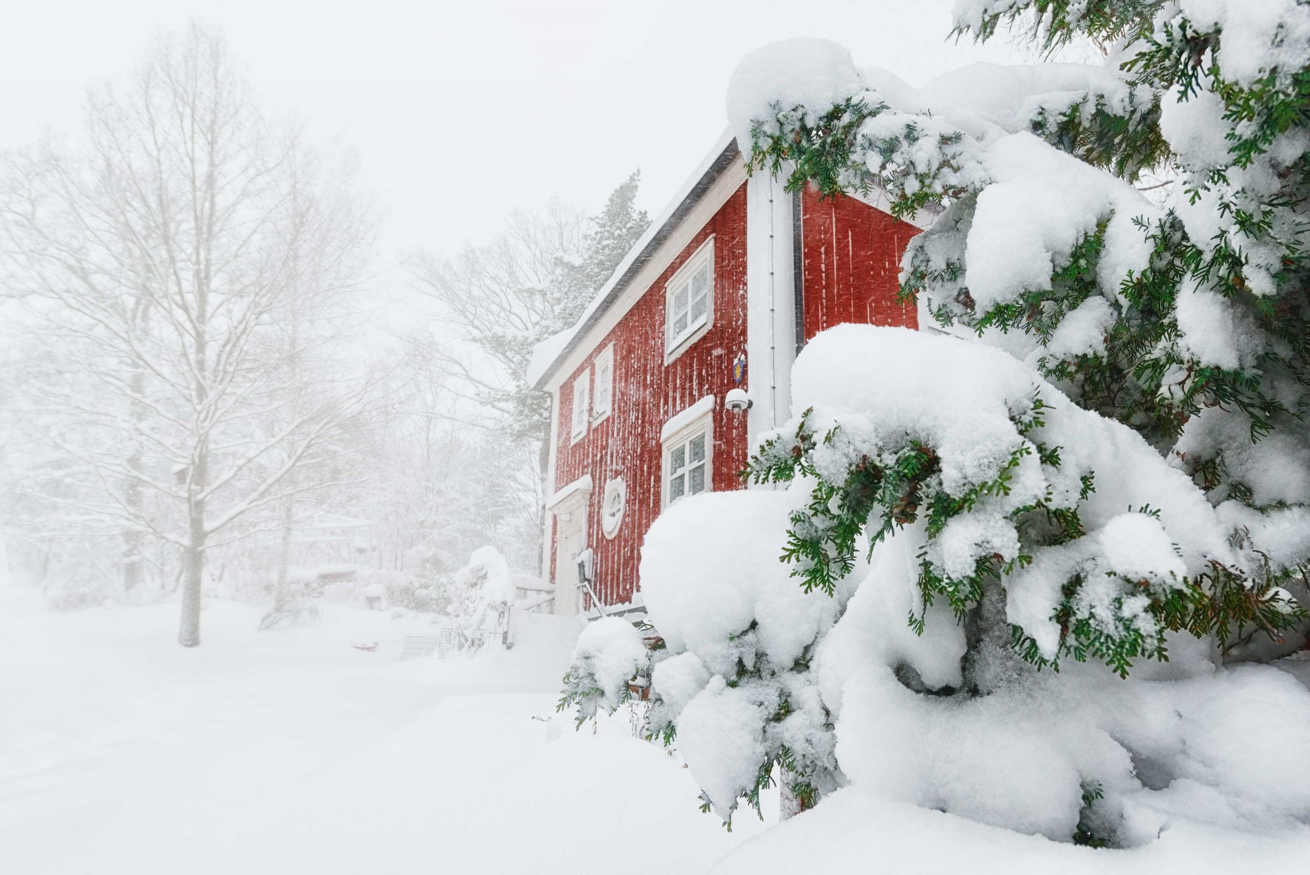
<instances>
[{"instance_id":1,"label":"entire low snow-laden shrub mass before the house, including its snowy base","mask_svg":"<svg viewBox=\"0 0 1310 875\"><path fill-rule=\"evenodd\" d=\"M1310 816L1310 785L1269 779L1310 775L1310 693L1213 650L1300 610L1145 439L905 329L820 334L794 393L752 460L786 489L679 502L642 549L652 735L706 808L757 806L782 766L802 807L852 782L1085 844ZM650 671L610 622L570 672L587 717ZM1254 719L1279 743L1225 745Z\"/></svg>"}]
</instances>

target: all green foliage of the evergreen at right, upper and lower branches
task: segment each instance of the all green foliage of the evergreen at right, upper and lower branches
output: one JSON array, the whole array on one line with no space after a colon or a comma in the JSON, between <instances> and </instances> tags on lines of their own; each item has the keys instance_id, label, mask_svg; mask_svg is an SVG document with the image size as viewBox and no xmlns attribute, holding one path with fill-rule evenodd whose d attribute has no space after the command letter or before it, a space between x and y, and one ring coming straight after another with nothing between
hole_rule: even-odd
<instances>
[{"instance_id":1,"label":"all green foliage of the evergreen at right, upper and lower branches","mask_svg":"<svg viewBox=\"0 0 1310 875\"><path fill-rule=\"evenodd\" d=\"M1095 233L1052 266L1048 287L1028 288L1013 300L979 308L964 284L964 240L979 195L992 183L985 173L971 169L977 144L931 117L883 123L879 117L891 110L869 93L827 111L774 105L773 118L753 124L749 164L790 174L791 190L814 183L823 196L886 190L891 211L899 216L924 208L945 210L931 231L910 245L901 282L903 300L927 295L943 326L962 325L980 337L986 331L1020 331L1045 347L1083 301L1117 296L1103 352L1047 351L1036 362L1038 371L1078 405L1134 428L1162 453L1176 455L1179 465L1212 502L1235 499L1268 513L1288 506L1258 503L1254 490L1231 474L1227 456L1241 453L1241 447L1220 443L1191 453L1172 453L1172 448L1184 426L1210 409L1239 417L1252 443L1280 430L1305 434L1305 415L1310 413L1310 286L1301 238L1310 164L1302 155L1276 165L1277 185L1272 190L1267 183L1254 186L1254 177L1242 172L1259 160L1268 162L1268 152L1280 136L1310 127L1310 69L1275 67L1255 81L1227 79L1218 60L1222 31L1197 28L1186 17L1165 16L1169 7L1138 0L994 3L984 4L976 20L960 21L956 31L981 41L1002 26L1028 26L1031 39L1045 51L1082 37L1127 46L1121 64L1131 88L1127 111L1121 103L1111 107L1104 96L1089 90L1058 111L1041 109L1030 122L1030 131L1051 145L1127 181L1142 170L1166 170L1179 161L1161 132L1161 101L1196 100L1203 90L1222 101L1224 121L1231 126L1229 168L1193 170L1184 164L1175 169L1191 202L1217 199L1212 208L1230 224L1213 238L1193 240L1174 210L1153 223L1136 219L1151 257L1145 270L1129 275L1119 288L1102 288L1096 272L1111 217L1107 215ZM930 157L924 157L921 148L925 138L930 138ZM897 158L907 147L920 147L916 160ZM1268 258L1258 266L1252 257L1269 248L1279 255L1264 280L1262 270ZM1258 280L1263 287L1254 286ZM1250 321L1260 344L1250 363L1220 367L1188 347L1176 308L1179 296L1192 287L1220 292L1241 314L1235 318ZM849 572L854 545L862 537L870 545L878 544L893 527L918 515L927 516L929 537L934 537L945 519L975 500L971 495L931 490L925 494L934 473L934 451L916 444L867 448L869 455L845 473L845 479L824 478L811 455L816 445L844 439L840 428L814 434L802 419L795 436L772 441L749 466L756 481L790 481L796 475L816 479L812 502L794 520L783 551L783 558L796 565L795 574L807 591L832 592L834 582ZM1058 448L1049 452L1057 456ZM980 489L1003 490L1005 483L998 479ZM1055 515L1051 508L1035 506L1015 516L1040 517L1041 527L1024 524L1020 531L1028 537L1040 533L1041 542L1079 536L1077 511ZM1246 533L1239 529L1233 537L1238 542ZM920 580L925 604L943 596L963 617L977 604L984 579L1003 579L1023 562L1022 555L1005 563L980 561L976 574L964 579L943 578L925 562ZM1279 639L1298 625L1305 610L1276 595L1276 587L1300 582L1307 562L1310 557L1281 567L1267 562L1255 579L1214 563L1180 587L1146 587L1150 614L1157 621L1149 635L1127 621L1114 633L1093 629L1070 608L1079 588L1073 579L1058 613L1061 654L1077 660L1103 659L1127 675L1134 659L1166 658L1163 630L1216 634L1225 646L1248 639L1252 627ZM1014 630L1014 644L1024 659L1045 663L1019 629Z\"/></svg>"}]
</instances>

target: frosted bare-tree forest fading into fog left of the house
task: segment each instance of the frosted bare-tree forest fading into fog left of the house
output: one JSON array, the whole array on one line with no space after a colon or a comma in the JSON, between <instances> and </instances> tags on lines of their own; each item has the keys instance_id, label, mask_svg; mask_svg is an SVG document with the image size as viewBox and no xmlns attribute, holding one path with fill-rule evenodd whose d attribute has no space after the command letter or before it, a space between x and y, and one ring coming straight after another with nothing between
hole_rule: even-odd
<instances>
[{"instance_id":1,"label":"frosted bare-tree forest fading into fog left of the house","mask_svg":"<svg viewBox=\"0 0 1310 875\"><path fill-rule=\"evenodd\" d=\"M194 644L202 595L431 606L483 544L538 570L527 356L645 231L637 174L597 215L392 255L304 131L193 25L0 153L0 533L54 604L181 592Z\"/></svg>"}]
</instances>

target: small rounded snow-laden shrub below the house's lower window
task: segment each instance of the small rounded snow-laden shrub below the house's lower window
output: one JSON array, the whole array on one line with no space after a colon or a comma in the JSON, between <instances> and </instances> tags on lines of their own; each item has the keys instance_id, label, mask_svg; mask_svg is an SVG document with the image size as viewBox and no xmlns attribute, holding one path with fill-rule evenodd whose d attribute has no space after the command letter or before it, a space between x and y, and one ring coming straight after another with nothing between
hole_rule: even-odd
<instances>
[{"instance_id":1,"label":"small rounded snow-laden shrub below the house's lower window","mask_svg":"<svg viewBox=\"0 0 1310 875\"><path fill-rule=\"evenodd\" d=\"M776 764L802 804L837 786L810 664L854 579L833 597L796 586L778 562L796 508L790 493L707 494L669 507L642 545L642 593L669 655L655 667L652 735L676 736L723 817L739 796L758 807Z\"/></svg>"}]
</instances>

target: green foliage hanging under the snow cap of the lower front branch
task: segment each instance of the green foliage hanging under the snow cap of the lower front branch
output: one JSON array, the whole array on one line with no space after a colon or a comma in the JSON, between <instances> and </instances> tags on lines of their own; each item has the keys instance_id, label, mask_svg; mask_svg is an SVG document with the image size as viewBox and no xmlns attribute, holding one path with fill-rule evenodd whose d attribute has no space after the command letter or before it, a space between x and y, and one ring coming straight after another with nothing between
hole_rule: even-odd
<instances>
[{"instance_id":1,"label":"green foliage hanging under the snow cap of the lower front branch","mask_svg":"<svg viewBox=\"0 0 1310 875\"><path fill-rule=\"evenodd\" d=\"M747 466L757 483L791 482L803 478L812 483L811 500L793 515L793 528L782 550L782 561L795 566L793 576L810 592L821 589L829 596L837 583L855 566L861 545L872 553L874 546L895 529L922 519L929 544L947 523L968 513L986 498L1010 494L1010 483L1026 456L1036 453L1041 465L1060 468L1060 448L1047 447L1032 432L1044 423L1044 403L1034 397L1031 405L1015 411L1011 422L1026 439L1009 461L990 479L951 494L941 478L938 455L933 447L905 438L900 443L867 443L840 424L823 434L811 424L812 411L806 411L795 435L774 438L760 448ZM852 460L842 477L833 478L831 465L815 461L820 447L837 447L837 456ZM1095 489L1093 474L1082 475L1081 500ZM1020 534L1020 551L1010 558L1001 554L980 557L972 574L952 576L926 551L920 557L918 589L922 609L945 599L959 622L982 601L990 582L1006 578L1032 562L1032 549L1070 544L1085 536L1078 508L1064 508L1049 500L1022 504L1009 512ZM1137 512L1158 517L1149 507ZM1108 572L1107 572L1108 574ZM1124 580L1125 593L1114 601L1114 626L1107 629L1103 614L1093 616L1079 600L1085 579L1073 574L1062 584L1062 600L1056 618L1060 624L1060 646L1053 659L1043 656L1036 642L1017 625L1010 626L1011 641L1020 658L1038 667L1060 668L1060 658L1077 661L1089 658L1104 661L1123 677L1136 659L1167 659L1166 633L1188 631L1196 637L1217 635L1221 644L1248 634L1252 627L1272 637L1296 627L1306 612L1277 589L1277 575L1259 582L1246 580L1220 563L1196 579L1155 582ZM1145 596L1146 604L1140 599ZM1140 617L1149 617L1142 624ZM909 624L924 629L924 613L912 613Z\"/></svg>"}]
</instances>

